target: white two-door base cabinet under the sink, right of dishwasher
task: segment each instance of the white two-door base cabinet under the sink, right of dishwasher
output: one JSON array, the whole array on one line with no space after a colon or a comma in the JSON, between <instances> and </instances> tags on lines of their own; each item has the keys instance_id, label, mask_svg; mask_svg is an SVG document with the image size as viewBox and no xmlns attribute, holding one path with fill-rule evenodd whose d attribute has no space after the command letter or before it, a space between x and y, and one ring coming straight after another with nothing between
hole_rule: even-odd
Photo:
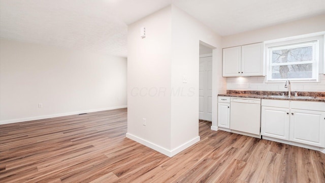
<instances>
[{"instance_id":1,"label":"white two-door base cabinet under the sink, right of dishwasher","mask_svg":"<svg viewBox=\"0 0 325 183\"><path fill-rule=\"evenodd\" d=\"M261 135L325 147L325 103L262 100Z\"/></svg>"}]
</instances>

